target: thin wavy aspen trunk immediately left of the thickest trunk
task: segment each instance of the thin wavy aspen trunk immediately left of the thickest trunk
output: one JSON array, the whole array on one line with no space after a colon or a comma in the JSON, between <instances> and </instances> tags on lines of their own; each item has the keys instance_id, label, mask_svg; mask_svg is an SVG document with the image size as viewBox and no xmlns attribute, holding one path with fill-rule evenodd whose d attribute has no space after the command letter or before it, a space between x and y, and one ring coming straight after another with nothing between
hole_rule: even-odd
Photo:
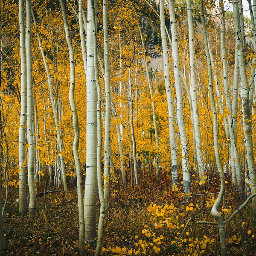
<instances>
[{"instance_id":1,"label":"thin wavy aspen trunk immediately left of the thickest trunk","mask_svg":"<svg viewBox=\"0 0 256 256\"><path fill-rule=\"evenodd\" d=\"M67 22L67 13L64 5L64 1L60 0L61 12L63 16L65 35L67 40L67 45L69 49L69 59L70 59L70 90L69 90L69 101L70 108L73 114L73 128L74 128L74 140L73 140L73 154L76 165L76 179L77 179L77 196L78 196L78 210L79 210L79 248L82 254L83 241L84 241L84 209L83 209L83 181L81 173L81 163L79 158L79 120L76 110L76 104L74 100L74 90L75 90L75 57L72 41L70 38L70 31Z\"/></svg>"}]
</instances>

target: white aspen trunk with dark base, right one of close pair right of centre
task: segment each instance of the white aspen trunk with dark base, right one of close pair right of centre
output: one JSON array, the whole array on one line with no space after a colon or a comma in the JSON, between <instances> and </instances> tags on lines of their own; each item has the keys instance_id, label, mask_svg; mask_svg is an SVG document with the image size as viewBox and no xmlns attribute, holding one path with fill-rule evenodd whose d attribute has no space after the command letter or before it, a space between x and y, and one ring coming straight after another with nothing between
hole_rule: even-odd
<instances>
[{"instance_id":1,"label":"white aspen trunk with dark base, right one of close pair right of centre","mask_svg":"<svg viewBox=\"0 0 256 256\"><path fill-rule=\"evenodd\" d=\"M191 193L190 175L189 175L189 151L188 151L188 140L186 136L186 128L184 125L183 116L183 96L180 79L180 57L178 47L178 36L176 27L176 18L174 10L173 0L169 0L169 14L172 29L172 57L174 67L174 78L175 78L175 89L176 89L176 100L177 100L177 123L179 126L180 143L181 143L181 154L182 154L182 172L183 172L183 188L185 198L189 197Z\"/></svg>"}]
</instances>

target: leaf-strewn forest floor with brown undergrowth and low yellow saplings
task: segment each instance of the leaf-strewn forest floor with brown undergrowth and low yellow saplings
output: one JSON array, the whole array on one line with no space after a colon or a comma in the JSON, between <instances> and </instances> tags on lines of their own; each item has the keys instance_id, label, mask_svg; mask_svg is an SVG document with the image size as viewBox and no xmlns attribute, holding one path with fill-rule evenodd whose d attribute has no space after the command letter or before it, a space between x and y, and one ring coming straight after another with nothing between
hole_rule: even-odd
<instances>
[{"instance_id":1,"label":"leaf-strewn forest floor with brown undergrowth and low yellow saplings","mask_svg":"<svg viewBox=\"0 0 256 256\"><path fill-rule=\"evenodd\" d=\"M218 226L211 216L218 176L208 176L203 186L195 175L192 178L189 202L183 200L182 182L172 188L168 175L162 174L158 182L153 176L140 177L140 186L132 188L122 187L117 179L105 216L102 255L220 255ZM52 189L44 187L43 182L37 188L38 193L48 190ZM226 191L219 209L224 220L245 200L244 195L232 191L230 181ZM9 187L4 214L8 256L79 255L76 180L69 184L67 193L38 197L35 218L19 213L17 198L18 188ZM256 255L256 218L250 203L225 228L228 255ZM95 246L88 244L84 255L93 255Z\"/></svg>"}]
</instances>

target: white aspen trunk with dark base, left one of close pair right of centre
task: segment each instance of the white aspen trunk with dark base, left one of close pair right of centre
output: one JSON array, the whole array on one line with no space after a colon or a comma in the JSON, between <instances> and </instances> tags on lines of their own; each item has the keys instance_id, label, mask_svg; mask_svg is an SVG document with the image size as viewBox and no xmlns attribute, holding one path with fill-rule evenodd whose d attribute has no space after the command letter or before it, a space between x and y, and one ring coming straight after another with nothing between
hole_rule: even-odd
<instances>
[{"instance_id":1,"label":"white aspen trunk with dark base, left one of close pair right of centre","mask_svg":"<svg viewBox=\"0 0 256 256\"><path fill-rule=\"evenodd\" d=\"M164 64L164 82L166 86L166 97L168 104L168 124L169 124L169 140L172 156L172 186L178 182L178 161L177 161L177 145L175 141L175 120L173 110L172 88L170 84L169 71L169 55L165 32L165 17L164 17L164 0L160 0L160 31L163 47L163 64Z\"/></svg>"}]
</instances>

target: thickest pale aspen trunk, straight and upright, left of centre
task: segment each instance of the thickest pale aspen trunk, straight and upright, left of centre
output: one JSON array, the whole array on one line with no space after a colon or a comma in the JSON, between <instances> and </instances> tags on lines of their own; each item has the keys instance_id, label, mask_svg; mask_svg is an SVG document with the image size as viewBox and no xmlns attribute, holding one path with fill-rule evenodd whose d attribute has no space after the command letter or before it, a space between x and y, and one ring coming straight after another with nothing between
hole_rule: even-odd
<instances>
[{"instance_id":1,"label":"thickest pale aspen trunk, straight and upright, left of centre","mask_svg":"<svg viewBox=\"0 0 256 256\"><path fill-rule=\"evenodd\" d=\"M87 1L87 72L86 72L86 177L84 188L84 240L93 241L96 236L97 193L97 87L95 78L93 19L96 2Z\"/></svg>"}]
</instances>

